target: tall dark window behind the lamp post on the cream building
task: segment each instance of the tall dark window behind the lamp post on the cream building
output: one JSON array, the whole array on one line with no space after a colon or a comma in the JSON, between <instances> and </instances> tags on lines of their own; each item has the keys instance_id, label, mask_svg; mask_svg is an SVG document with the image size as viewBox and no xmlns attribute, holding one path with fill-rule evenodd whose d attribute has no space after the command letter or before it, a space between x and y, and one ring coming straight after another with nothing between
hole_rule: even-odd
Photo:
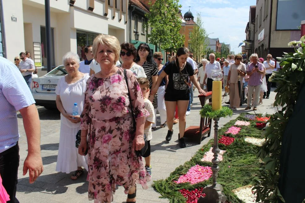
<instances>
[{"instance_id":1,"label":"tall dark window behind the lamp post on the cream building","mask_svg":"<svg viewBox=\"0 0 305 203\"><path fill-rule=\"evenodd\" d=\"M46 43L46 33L45 27L40 27L40 38L41 38L41 57L42 66L47 67L47 43ZM51 28L51 66L55 68L55 58L54 58L54 28Z\"/></svg>"}]
</instances>

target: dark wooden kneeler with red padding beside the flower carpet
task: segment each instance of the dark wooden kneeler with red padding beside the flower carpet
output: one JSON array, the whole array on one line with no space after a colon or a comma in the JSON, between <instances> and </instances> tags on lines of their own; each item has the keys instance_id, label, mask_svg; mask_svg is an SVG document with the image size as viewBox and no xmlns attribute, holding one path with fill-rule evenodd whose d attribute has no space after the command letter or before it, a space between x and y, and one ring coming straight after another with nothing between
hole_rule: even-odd
<instances>
[{"instance_id":1,"label":"dark wooden kneeler with red padding beside the flower carpet","mask_svg":"<svg viewBox=\"0 0 305 203\"><path fill-rule=\"evenodd\" d=\"M204 106L206 100L212 98L212 91L209 91L207 95L198 95L200 99L201 107ZM209 104L212 104L211 102ZM209 117L200 116L200 126L190 126L185 129L184 137L195 138L198 140L198 144L201 144L202 138L208 134L210 137L212 127L212 119Z\"/></svg>"}]
</instances>

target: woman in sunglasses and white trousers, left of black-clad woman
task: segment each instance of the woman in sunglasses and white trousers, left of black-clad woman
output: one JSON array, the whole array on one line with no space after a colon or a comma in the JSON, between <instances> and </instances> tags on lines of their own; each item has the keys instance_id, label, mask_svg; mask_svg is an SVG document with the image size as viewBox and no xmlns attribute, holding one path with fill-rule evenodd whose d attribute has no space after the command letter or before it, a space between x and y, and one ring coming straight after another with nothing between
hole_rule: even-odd
<instances>
[{"instance_id":1,"label":"woman in sunglasses and white trousers, left of black-clad woman","mask_svg":"<svg viewBox=\"0 0 305 203\"><path fill-rule=\"evenodd\" d=\"M163 61L163 54L161 52L155 52L153 54L153 59L155 60L157 67L158 67L158 75L161 74L165 66L162 65ZM161 122L161 128L164 128L166 126L166 107L165 107L165 101L164 101L164 95L165 95L165 88L168 84L168 77L165 76L158 88L157 92L157 100L158 100L158 110L160 113L160 122ZM157 109L155 109L155 115L157 114ZM157 123L157 117L155 116L155 123Z\"/></svg>"}]
</instances>

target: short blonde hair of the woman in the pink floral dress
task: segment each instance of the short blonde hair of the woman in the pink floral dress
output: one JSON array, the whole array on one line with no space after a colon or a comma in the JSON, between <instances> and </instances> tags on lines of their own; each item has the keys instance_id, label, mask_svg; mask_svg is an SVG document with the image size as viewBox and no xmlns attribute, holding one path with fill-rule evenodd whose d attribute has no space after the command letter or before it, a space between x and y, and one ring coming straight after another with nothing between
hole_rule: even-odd
<instances>
[{"instance_id":1,"label":"short blonde hair of the woman in the pink floral dress","mask_svg":"<svg viewBox=\"0 0 305 203\"><path fill-rule=\"evenodd\" d=\"M109 49L112 49L114 51L114 55L115 55L114 63L116 61L118 61L118 59L120 57L120 51L121 51L121 46L118 41L118 38L116 38L115 36L111 36L111 35L100 34L94 39L92 51L93 51L94 59L96 61L97 61L97 48L100 44Z\"/></svg>"}]
</instances>

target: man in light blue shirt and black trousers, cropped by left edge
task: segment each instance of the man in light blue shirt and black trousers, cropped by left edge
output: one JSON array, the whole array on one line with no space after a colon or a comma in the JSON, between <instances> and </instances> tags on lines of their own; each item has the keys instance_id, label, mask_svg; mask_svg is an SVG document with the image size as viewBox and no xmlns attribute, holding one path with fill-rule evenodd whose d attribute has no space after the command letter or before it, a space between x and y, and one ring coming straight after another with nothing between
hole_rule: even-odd
<instances>
[{"instance_id":1,"label":"man in light blue shirt and black trousers, cropped by left edge","mask_svg":"<svg viewBox=\"0 0 305 203\"><path fill-rule=\"evenodd\" d=\"M24 160L23 175L29 171L29 182L34 183L43 171L38 111L31 91L18 68L11 61L0 57L0 175L10 196L8 203L19 203L15 197L19 167L17 111L23 118L28 140L28 155Z\"/></svg>"}]
</instances>

